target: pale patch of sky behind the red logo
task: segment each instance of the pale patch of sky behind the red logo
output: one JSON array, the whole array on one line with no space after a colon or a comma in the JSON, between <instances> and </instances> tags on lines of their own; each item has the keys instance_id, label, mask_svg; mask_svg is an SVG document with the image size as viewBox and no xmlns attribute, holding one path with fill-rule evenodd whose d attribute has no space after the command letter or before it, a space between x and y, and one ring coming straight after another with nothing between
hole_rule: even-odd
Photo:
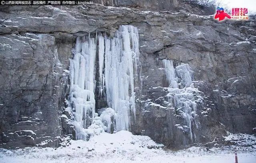
<instances>
[{"instance_id":1,"label":"pale patch of sky behind the red logo","mask_svg":"<svg viewBox=\"0 0 256 163\"><path fill-rule=\"evenodd\" d=\"M248 12L256 12L256 0L217 0L224 4L223 7L226 10L226 6L229 9L232 8L248 8ZM227 8L227 9L228 9Z\"/></svg>"}]
</instances>

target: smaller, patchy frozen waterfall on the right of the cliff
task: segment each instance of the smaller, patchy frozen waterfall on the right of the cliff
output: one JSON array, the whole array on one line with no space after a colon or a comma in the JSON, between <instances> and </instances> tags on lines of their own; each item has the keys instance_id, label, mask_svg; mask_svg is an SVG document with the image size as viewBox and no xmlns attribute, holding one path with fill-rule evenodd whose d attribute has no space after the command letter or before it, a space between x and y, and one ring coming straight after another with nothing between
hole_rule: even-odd
<instances>
[{"instance_id":1,"label":"smaller, patchy frozen waterfall on the right of the cliff","mask_svg":"<svg viewBox=\"0 0 256 163\"><path fill-rule=\"evenodd\" d=\"M198 92L192 83L192 71L188 64L180 64L174 68L171 60L162 60L166 78L169 83L168 101L172 107L176 109L176 114L181 115L184 120L184 125L180 128L189 131L190 139L193 142L192 123L196 127L196 102L193 92Z\"/></svg>"}]
</instances>

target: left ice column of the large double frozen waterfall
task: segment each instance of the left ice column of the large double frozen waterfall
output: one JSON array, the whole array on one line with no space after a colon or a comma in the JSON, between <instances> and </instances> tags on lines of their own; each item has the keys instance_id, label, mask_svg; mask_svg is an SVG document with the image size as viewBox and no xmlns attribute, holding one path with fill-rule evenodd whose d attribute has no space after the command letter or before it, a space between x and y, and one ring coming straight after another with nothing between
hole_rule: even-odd
<instances>
[{"instance_id":1,"label":"left ice column of the large double frozen waterfall","mask_svg":"<svg viewBox=\"0 0 256 163\"><path fill-rule=\"evenodd\" d=\"M94 38L78 37L73 60L70 60L70 105L74 111L76 139L86 139L87 128L95 113L94 63L96 43Z\"/></svg>"}]
</instances>

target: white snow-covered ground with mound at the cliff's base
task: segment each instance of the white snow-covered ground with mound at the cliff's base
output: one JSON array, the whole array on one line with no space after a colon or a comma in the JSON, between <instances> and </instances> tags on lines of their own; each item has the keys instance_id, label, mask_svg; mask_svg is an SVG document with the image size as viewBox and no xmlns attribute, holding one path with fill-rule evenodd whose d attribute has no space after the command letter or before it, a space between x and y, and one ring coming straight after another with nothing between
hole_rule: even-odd
<instances>
[{"instance_id":1,"label":"white snow-covered ground with mound at the cliff's base","mask_svg":"<svg viewBox=\"0 0 256 163\"><path fill-rule=\"evenodd\" d=\"M101 133L59 148L0 149L1 163L234 163L234 147L191 147L170 151L148 136L128 131ZM149 149L148 147L152 148ZM160 148L159 148L160 147ZM159 148L159 149L157 149ZM238 147L238 163L256 163L256 146Z\"/></svg>"}]
</instances>

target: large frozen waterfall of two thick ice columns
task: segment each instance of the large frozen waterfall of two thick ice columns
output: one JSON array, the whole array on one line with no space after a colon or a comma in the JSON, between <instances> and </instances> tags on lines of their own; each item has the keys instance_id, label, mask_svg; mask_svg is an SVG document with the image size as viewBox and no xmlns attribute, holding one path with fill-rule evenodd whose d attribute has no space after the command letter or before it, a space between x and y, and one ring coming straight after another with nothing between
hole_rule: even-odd
<instances>
[{"instance_id":1,"label":"large frozen waterfall of two thick ice columns","mask_svg":"<svg viewBox=\"0 0 256 163\"><path fill-rule=\"evenodd\" d=\"M93 134L88 129L96 124L100 127L104 124L107 132L110 126L116 131L129 129L131 113L135 116L134 76L139 63L138 47L138 30L134 26L120 26L111 39L101 33L98 39L90 38L90 34L77 38L74 58L70 59L68 101L74 115L76 139L88 139L88 135ZM108 105L100 117L95 113L96 83L100 98L106 97ZM98 122L99 118L103 123Z\"/></svg>"}]
</instances>

